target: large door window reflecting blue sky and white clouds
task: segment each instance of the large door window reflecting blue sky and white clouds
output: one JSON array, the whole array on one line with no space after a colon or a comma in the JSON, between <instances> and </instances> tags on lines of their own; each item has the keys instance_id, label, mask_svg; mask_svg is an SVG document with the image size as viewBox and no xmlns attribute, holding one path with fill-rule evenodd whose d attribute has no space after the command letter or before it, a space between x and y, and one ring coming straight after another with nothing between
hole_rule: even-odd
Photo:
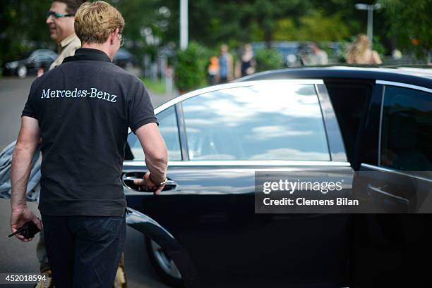
<instances>
[{"instance_id":1,"label":"large door window reflecting blue sky and white clouds","mask_svg":"<svg viewBox=\"0 0 432 288\"><path fill-rule=\"evenodd\" d=\"M330 160L313 84L271 83L182 102L193 160Z\"/></svg>"}]
</instances>

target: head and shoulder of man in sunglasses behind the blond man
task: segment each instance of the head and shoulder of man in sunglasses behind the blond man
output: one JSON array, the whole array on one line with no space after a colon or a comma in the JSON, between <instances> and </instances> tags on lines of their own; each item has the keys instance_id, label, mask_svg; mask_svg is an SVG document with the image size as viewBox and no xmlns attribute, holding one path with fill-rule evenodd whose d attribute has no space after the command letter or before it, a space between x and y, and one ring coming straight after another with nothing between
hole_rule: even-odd
<instances>
[{"instance_id":1,"label":"head and shoulder of man in sunglasses behind the blond man","mask_svg":"<svg viewBox=\"0 0 432 288\"><path fill-rule=\"evenodd\" d=\"M56 68L64 58L73 56L81 42L73 28L75 13L85 0L56 0L47 11L47 25L51 39L59 46L59 56L49 69Z\"/></svg>"}]
</instances>

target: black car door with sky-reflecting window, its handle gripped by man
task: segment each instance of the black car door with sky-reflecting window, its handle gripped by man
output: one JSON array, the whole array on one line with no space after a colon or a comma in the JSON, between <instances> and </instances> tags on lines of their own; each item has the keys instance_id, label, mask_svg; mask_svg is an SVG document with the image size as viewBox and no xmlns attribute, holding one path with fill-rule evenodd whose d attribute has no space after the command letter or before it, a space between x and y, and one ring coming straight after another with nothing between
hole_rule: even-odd
<instances>
[{"instance_id":1,"label":"black car door with sky-reflecting window, its handle gripped by man","mask_svg":"<svg viewBox=\"0 0 432 288\"><path fill-rule=\"evenodd\" d=\"M128 206L188 251L202 287L323 287L347 283L349 215L256 213L257 171L340 181L352 168L321 80L225 84L156 109L169 150L169 187L133 187L143 152L124 162ZM132 178L129 178L132 179Z\"/></svg>"}]
</instances>

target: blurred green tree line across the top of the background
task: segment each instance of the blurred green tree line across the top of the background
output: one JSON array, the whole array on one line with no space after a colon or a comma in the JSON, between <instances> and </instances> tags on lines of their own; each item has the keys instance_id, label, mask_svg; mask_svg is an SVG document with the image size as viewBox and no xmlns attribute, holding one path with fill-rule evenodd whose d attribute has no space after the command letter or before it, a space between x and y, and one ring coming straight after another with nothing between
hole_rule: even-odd
<instances>
[{"instance_id":1,"label":"blurred green tree line across the top of the background","mask_svg":"<svg viewBox=\"0 0 432 288\"><path fill-rule=\"evenodd\" d=\"M125 48L134 54L138 63L144 54L151 54L155 59L161 45L178 46L179 0L107 1L124 15ZM383 8L373 14L374 35L379 35L387 46L397 40L397 48L424 55L432 46L432 0L378 1ZM0 61L17 59L21 52L31 49L55 50L44 17L51 3L52 0L0 1ZM356 3L359 1L188 1L189 38L211 49L218 49L222 42L235 48L256 41L343 41L366 32L367 13L356 10ZM418 44L413 44L413 39Z\"/></svg>"}]
</instances>

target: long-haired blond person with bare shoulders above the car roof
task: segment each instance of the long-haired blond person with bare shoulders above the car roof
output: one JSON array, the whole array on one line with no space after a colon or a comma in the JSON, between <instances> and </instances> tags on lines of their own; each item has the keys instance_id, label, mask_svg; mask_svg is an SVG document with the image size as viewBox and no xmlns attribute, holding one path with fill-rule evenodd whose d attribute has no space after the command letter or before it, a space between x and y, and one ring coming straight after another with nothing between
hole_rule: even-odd
<instances>
[{"instance_id":1,"label":"long-haired blond person with bare shoulders above the car roof","mask_svg":"<svg viewBox=\"0 0 432 288\"><path fill-rule=\"evenodd\" d=\"M381 61L378 52L370 48L371 42L364 34L357 36L357 39L349 47L347 53L348 64L380 64Z\"/></svg>"}]
</instances>

